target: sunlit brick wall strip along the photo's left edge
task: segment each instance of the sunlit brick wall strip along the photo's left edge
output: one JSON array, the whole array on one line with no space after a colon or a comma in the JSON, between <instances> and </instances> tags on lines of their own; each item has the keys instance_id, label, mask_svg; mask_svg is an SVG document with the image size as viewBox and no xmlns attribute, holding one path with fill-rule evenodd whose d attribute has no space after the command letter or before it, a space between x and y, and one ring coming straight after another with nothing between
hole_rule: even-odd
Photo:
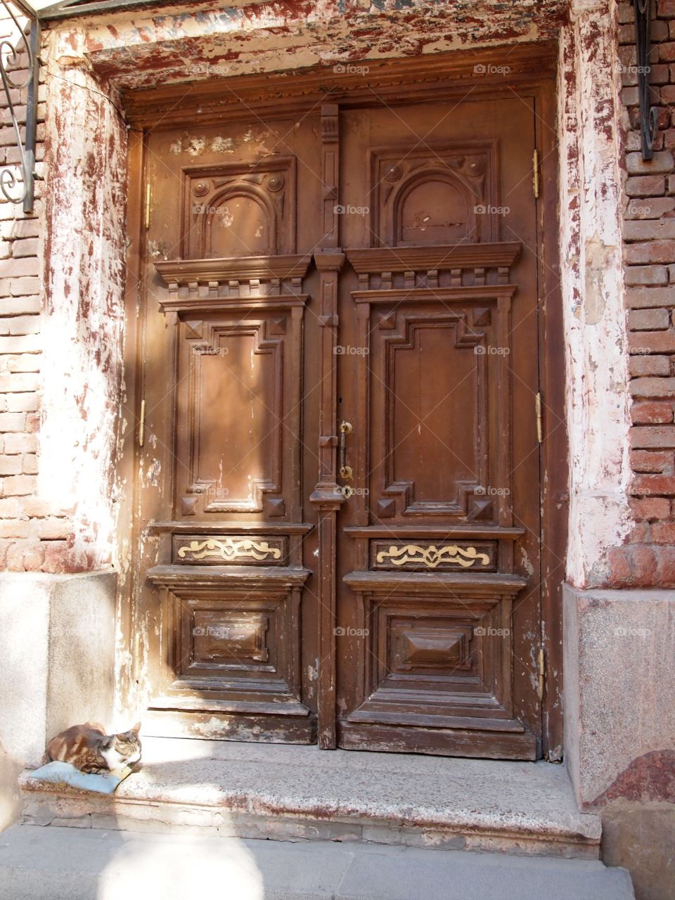
<instances>
[{"instance_id":1,"label":"sunlit brick wall strip along the photo's left edge","mask_svg":"<svg viewBox=\"0 0 675 900\"><path fill-rule=\"evenodd\" d=\"M23 49L12 20L0 18L0 37ZM20 65L27 65L22 54ZM25 80L20 70L14 80ZM25 122L25 90L13 91ZM0 91L0 164L19 159L9 110ZM0 569L58 572L70 533L67 514L40 500L40 309L43 109L40 107L35 212L0 196Z\"/></svg>"}]
</instances>

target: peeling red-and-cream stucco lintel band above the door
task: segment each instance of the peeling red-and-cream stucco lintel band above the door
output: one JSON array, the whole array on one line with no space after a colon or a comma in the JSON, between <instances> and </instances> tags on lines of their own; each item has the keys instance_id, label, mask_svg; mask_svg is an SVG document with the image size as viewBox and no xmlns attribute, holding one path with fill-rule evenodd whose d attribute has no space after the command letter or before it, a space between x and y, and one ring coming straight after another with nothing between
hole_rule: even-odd
<instances>
[{"instance_id":1,"label":"peeling red-and-cream stucco lintel band above the door","mask_svg":"<svg viewBox=\"0 0 675 900\"><path fill-rule=\"evenodd\" d=\"M58 25L51 53L118 87L419 56L554 38L566 0L285 0L189 4Z\"/></svg>"}]
</instances>

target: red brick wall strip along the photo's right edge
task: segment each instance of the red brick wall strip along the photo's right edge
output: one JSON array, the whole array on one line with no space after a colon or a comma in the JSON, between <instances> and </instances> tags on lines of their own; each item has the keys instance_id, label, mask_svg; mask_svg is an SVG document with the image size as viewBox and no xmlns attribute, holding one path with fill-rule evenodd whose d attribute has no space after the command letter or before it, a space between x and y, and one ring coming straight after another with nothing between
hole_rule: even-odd
<instances>
[{"instance_id":1,"label":"red brick wall strip along the photo's right edge","mask_svg":"<svg viewBox=\"0 0 675 900\"><path fill-rule=\"evenodd\" d=\"M653 7L650 81L660 130L653 159L645 162L633 4L618 5L635 527L626 545L610 552L612 587L675 585L675 0Z\"/></svg>"}]
</instances>

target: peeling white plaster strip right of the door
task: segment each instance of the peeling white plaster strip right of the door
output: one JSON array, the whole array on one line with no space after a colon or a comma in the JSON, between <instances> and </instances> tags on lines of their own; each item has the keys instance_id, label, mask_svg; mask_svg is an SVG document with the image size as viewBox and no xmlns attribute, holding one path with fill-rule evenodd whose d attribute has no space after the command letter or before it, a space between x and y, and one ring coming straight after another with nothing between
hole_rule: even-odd
<instances>
[{"instance_id":1,"label":"peeling white plaster strip right of the door","mask_svg":"<svg viewBox=\"0 0 675 900\"><path fill-rule=\"evenodd\" d=\"M616 4L575 0L559 76L570 529L567 578L601 578L631 527Z\"/></svg>"}]
</instances>

